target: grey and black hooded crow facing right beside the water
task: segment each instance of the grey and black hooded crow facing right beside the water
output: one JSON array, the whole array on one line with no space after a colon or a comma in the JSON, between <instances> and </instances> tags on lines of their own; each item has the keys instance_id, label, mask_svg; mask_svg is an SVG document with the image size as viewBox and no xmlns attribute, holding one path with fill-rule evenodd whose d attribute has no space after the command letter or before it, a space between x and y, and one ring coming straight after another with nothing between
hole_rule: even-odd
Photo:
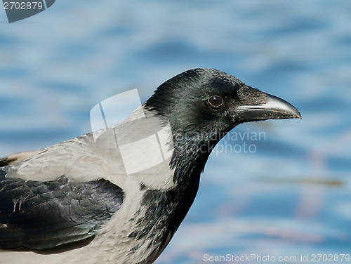
<instances>
[{"instance_id":1,"label":"grey and black hooded crow facing right beside the water","mask_svg":"<svg viewBox=\"0 0 351 264\"><path fill-rule=\"evenodd\" d=\"M293 105L213 69L157 88L125 121L0 159L3 263L153 263L235 126L301 118Z\"/></svg>"}]
</instances>

